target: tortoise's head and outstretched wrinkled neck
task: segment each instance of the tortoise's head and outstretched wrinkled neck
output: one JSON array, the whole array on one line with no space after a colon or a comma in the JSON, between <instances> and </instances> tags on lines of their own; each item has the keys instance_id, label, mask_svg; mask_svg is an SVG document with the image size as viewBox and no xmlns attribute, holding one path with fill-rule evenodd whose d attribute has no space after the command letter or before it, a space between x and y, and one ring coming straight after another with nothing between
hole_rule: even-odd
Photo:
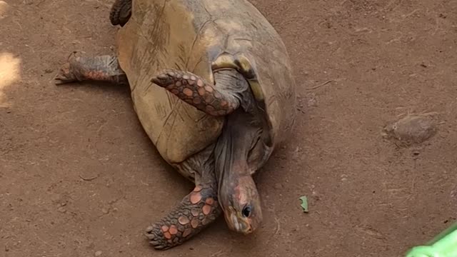
<instances>
[{"instance_id":1,"label":"tortoise's head and outstretched wrinkled neck","mask_svg":"<svg viewBox=\"0 0 457 257\"><path fill-rule=\"evenodd\" d=\"M261 201L252 174L266 156L261 125L243 109L226 116L216 143L219 202L232 231L248 234L262 221Z\"/></svg>"}]
</instances>

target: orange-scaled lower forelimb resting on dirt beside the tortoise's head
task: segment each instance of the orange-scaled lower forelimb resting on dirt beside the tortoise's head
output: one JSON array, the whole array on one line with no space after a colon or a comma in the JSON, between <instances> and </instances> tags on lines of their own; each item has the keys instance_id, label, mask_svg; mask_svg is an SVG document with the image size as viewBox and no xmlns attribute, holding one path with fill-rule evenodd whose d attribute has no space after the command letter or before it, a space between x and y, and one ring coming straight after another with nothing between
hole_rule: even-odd
<instances>
[{"instance_id":1,"label":"orange-scaled lower forelimb resting on dirt beside the tortoise's head","mask_svg":"<svg viewBox=\"0 0 457 257\"><path fill-rule=\"evenodd\" d=\"M213 223L222 213L213 188L196 186L168 216L146 228L156 250L179 246Z\"/></svg>"}]
</instances>

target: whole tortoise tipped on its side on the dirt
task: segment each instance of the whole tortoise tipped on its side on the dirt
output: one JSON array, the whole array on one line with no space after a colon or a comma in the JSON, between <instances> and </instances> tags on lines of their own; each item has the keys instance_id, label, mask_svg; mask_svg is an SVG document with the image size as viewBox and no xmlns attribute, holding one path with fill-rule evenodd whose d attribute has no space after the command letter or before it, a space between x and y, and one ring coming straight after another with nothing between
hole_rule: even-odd
<instances>
[{"instance_id":1,"label":"whole tortoise tipped on its side on the dirt","mask_svg":"<svg viewBox=\"0 0 457 257\"><path fill-rule=\"evenodd\" d=\"M296 81L277 31L246 0L116 0L109 18L119 25L116 54L71 54L55 83L129 86L161 157L195 183L146 228L149 243L178 246L221 213L232 231L256 231L263 216L253 174L296 116Z\"/></svg>"}]
</instances>

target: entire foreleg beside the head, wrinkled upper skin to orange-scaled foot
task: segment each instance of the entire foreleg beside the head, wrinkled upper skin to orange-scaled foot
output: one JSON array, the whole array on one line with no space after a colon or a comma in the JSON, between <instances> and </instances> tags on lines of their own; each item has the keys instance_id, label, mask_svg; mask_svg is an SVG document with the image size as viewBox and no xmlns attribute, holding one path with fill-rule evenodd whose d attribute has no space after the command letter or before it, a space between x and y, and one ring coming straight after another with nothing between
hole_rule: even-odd
<instances>
[{"instance_id":1,"label":"entire foreleg beside the head, wrinkled upper skin to orange-scaled foot","mask_svg":"<svg viewBox=\"0 0 457 257\"><path fill-rule=\"evenodd\" d=\"M146 237L156 250L181 245L221 215L213 150L214 146L210 146L181 165L186 171L195 173L196 187L161 221L146 228Z\"/></svg>"}]
</instances>

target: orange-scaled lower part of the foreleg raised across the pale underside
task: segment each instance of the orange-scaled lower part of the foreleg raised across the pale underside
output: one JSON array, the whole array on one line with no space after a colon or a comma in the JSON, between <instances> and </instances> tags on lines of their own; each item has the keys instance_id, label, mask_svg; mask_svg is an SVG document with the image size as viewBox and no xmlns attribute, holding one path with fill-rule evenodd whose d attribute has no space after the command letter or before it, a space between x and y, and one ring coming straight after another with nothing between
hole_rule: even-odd
<instances>
[{"instance_id":1,"label":"orange-scaled lower part of the foreleg raised across the pale underside","mask_svg":"<svg viewBox=\"0 0 457 257\"><path fill-rule=\"evenodd\" d=\"M225 116L238 108L240 101L221 87L207 81L189 71L166 69L154 76L151 81L170 91L186 103L195 106L212 116ZM226 81L223 81L226 82ZM216 81L217 85L218 81Z\"/></svg>"}]
</instances>

